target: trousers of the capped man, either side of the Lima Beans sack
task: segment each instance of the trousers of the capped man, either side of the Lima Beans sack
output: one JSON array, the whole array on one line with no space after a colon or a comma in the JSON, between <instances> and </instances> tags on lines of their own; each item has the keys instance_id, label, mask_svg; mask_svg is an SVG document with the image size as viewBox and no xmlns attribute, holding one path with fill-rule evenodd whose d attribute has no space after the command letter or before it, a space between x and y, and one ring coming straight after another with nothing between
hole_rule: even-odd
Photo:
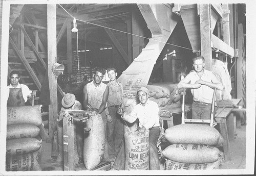
<instances>
[{"instance_id":1,"label":"trousers of the capped man, either side of the Lima Beans sack","mask_svg":"<svg viewBox=\"0 0 256 176\"><path fill-rule=\"evenodd\" d=\"M160 170L158 150L157 150L157 141L158 141L160 132L161 131L159 127L153 127L150 129L150 136L149 136L150 170ZM117 170L124 170L124 164L125 164L125 143L123 138L120 149L119 149L119 153L112 167Z\"/></svg>"}]
</instances>

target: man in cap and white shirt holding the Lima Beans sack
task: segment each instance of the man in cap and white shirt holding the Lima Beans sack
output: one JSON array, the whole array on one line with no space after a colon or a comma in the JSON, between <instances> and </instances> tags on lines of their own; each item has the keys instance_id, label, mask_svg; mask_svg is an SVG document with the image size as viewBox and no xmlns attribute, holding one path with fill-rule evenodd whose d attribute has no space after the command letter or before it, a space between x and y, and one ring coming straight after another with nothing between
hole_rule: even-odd
<instances>
[{"instance_id":1,"label":"man in cap and white shirt holding the Lima Beans sack","mask_svg":"<svg viewBox=\"0 0 256 176\"><path fill-rule=\"evenodd\" d=\"M139 127L137 128L137 135L144 135L146 130L150 130L149 143L150 143L150 170L160 170L157 140L160 135L159 124L159 108L157 103L148 99L148 90L145 87L140 87L137 91L139 104L137 104L131 114L125 114L123 107L118 108L118 113L121 117L130 123L133 123L137 118L139 119ZM117 158L113 164L113 169L124 169L124 154L125 149L122 146L119 150Z\"/></svg>"}]
</instances>

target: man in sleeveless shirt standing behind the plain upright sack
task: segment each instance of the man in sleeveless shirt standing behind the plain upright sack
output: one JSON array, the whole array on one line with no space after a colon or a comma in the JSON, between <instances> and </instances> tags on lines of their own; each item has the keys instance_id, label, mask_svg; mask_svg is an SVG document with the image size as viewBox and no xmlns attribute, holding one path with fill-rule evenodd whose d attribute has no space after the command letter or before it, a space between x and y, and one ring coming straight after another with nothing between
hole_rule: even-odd
<instances>
[{"instance_id":1,"label":"man in sleeveless shirt standing behind the plain upright sack","mask_svg":"<svg viewBox=\"0 0 256 176\"><path fill-rule=\"evenodd\" d=\"M109 143L106 134L106 115L109 115L108 108L106 108L106 102L109 97L109 86L102 83L105 73L106 71L104 68L96 67L94 80L83 87L83 108L86 110L96 111L96 115L100 115L102 117L105 132L105 150L103 160L110 161L108 151Z\"/></svg>"}]
</instances>

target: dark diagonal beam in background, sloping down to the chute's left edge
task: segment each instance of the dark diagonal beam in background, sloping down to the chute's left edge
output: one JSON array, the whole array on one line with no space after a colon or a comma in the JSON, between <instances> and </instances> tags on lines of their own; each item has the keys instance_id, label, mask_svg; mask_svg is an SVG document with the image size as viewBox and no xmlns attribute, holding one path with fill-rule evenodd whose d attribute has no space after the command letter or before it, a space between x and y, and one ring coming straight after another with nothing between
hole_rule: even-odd
<instances>
[{"instance_id":1,"label":"dark diagonal beam in background, sloping down to the chute's left edge","mask_svg":"<svg viewBox=\"0 0 256 176\"><path fill-rule=\"evenodd\" d=\"M108 24L104 23L104 26L108 27ZM125 61L125 63L127 65L130 65L132 62L129 60L127 54L125 53L124 49L122 48L121 44L119 43L119 41L116 39L115 35L113 34L113 32L110 29L104 28L106 34L108 34L108 36L110 37L110 39L112 40L113 44L115 45L115 47L117 48L117 51L119 52L119 54L122 56L123 60Z\"/></svg>"}]
</instances>

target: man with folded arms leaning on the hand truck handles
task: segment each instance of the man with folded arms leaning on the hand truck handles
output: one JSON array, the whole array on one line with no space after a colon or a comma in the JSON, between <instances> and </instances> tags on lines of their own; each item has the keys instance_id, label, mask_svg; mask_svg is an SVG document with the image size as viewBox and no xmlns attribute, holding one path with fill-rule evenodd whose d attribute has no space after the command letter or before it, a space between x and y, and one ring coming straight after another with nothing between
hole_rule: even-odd
<instances>
[{"instance_id":1,"label":"man with folded arms leaning on the hand truck handles","mask_svg":"<svg viewBox=\"0 0 256 176\"><path fill-rule=\"evenodd\" d=\"M193 95L192 118L210 119L214 89L222 90L223 86L212 71L204 69L204 57L193 58L192 70L178 84L178 88L190 88ZM217 108L215 108L215 111Z\"/></svg>"}]
</instances>

